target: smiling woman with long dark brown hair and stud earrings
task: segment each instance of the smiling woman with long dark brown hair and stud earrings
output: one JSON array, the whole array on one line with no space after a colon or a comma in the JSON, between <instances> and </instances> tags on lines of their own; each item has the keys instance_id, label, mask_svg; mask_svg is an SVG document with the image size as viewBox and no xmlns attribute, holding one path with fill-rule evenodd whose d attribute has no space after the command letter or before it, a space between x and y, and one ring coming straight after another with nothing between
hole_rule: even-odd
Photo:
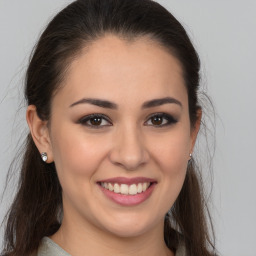
<instances>
[{"instance_id":1,"label":"smiling woman with long dark brown hair and stud earrings","mask_svg":"<svg viewBox=\"0 0 256 256\"><path fill-rule=\"evenodd\" d=\"M213 255L192 157L199 70L153 1L61 11L27 70L30 134L4 255Z\"/></svg>"}]
</instances>

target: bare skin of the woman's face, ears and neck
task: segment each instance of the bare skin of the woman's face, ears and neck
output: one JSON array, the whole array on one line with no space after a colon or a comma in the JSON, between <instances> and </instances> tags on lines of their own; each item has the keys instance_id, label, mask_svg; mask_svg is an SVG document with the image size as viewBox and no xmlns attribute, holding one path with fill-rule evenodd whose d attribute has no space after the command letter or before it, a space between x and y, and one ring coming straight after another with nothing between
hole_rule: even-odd
<instances>
[{"instance_id":1,"label":"bare skin of the woman's face, ears and neck","mask_svg":"<svg viewBox=\"0 0 256 256\"><path fill-rule=\"evenodd\" d=\"M180 102L142 108L153 99ZM116 109L83 98L108 100ZM108 117L100 126L79 120ZM177 122L155 125L150 116ZM167 120L161 119L162 124ZM163 238L164 216L182 188L200 118L192 129L178 60L157 43L126 42L106 35L85 48L70 66L52 101L51 122L29 106L27 121L39 152L55 162L63 188L64 218L51 238L71 255L174 255ZM160 122L160 123L161 123ZM151 196L135 206L108 199L97 181L112 177L157 181Z\"/></svg>"}]
</instances>

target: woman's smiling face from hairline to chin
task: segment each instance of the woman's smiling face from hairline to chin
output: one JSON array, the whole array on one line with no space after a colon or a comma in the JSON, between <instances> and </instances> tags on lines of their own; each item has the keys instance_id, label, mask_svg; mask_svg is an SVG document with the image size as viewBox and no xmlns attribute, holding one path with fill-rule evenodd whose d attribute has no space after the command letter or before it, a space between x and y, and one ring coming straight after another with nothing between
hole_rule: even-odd
<instances>
[{"instance_id":1,"label":"woman's smiling face from hairline to chin","mask_svg":"<svg viewBox=\"0 0 256 256\"><path fill-rule=\"evenodd\" d=\"M177 59L145 38L99 39L71 64L49 133L63 223L122 237L162 232L196 136Z\"/></svg>"}]
</instances>

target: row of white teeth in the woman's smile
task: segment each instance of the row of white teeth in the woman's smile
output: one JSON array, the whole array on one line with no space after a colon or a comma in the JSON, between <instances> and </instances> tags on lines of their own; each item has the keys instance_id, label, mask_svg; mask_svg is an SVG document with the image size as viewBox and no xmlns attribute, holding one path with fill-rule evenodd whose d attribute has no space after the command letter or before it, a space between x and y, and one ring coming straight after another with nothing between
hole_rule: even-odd
<instances>
[{"instance_id":1,"label":"row of white teeth in the woman's smile","mask_svg":"<svg viewBox=\"0 0 256 256\"><path fill-rule=\"evenodd\" d=\"M150 183L149 182L143 182L143 183L138 183L138 184L132 184L132 185L127 185L127 184L118 184L118 183L106 183L102 182L101 186L105 189L108 189L110 191L113 191L114 193L117 194L122 194L122 195L137 195L139 193L145 192Z\"/></svg>"}]
</instances>

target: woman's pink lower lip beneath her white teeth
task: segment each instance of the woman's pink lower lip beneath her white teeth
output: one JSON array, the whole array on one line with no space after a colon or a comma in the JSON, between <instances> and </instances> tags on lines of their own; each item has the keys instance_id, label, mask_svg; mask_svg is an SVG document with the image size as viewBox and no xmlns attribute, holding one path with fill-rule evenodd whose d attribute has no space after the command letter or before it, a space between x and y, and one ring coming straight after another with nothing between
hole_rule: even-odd
<instances>
[{"instance_id":1,"label":"woman's pink lower lip beneath her white teeth","mask_svg":"<svg viewBox=\"0 0 256 256\"><path fill-rule=\"evenodd\" d=\"M117 194L113 191L103 188L101 185L99 185L99 187L101 191L104 193L104 195L107 196L112 201L114 201L115 203L123 206L133 206L133 205L141 204L144 201L146 201L152 194L155 188L155 185L156 183L151 184L146 191L136 195Z\"/></svg>"}]
</instances>

